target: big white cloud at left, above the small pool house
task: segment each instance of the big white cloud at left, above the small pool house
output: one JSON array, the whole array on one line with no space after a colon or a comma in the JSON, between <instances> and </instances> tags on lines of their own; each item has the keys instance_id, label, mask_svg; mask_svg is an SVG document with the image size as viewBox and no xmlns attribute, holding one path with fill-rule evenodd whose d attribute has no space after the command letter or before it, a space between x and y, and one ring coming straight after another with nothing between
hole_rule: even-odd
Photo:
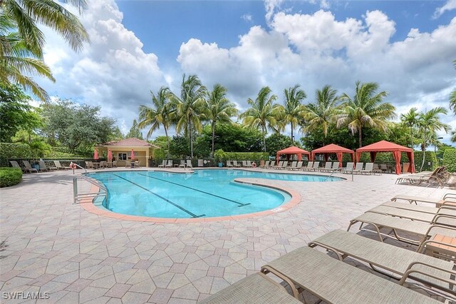
<instances>
[{"instance_id":1,"label":"big white cloud at left, above the small pool house","mask_svg":"<svg viewBox=\"0 0 456 304\"><path fill-rule=\"evenodd\" d=\"M102 115L118 120L125 133L138 116L138 106L150 100L150 90L165 84L155 54L145 54L142 43L122 24L114 0L91 1L80 20L91 43L74 53L60 36L44 29L44 49L56 83L43 81L49 93L102 106Z\"/></svg>"}]
</instances>

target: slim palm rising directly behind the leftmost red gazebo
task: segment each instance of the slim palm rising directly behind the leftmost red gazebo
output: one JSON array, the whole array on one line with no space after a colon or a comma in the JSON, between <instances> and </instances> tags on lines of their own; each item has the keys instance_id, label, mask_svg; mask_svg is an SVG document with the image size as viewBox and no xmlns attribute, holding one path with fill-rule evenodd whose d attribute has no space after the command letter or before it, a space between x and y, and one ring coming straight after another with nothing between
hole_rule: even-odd
<instances>
[{"instance_id":1,"label":"slim palm rising directly behind the leftmost red gazebo","mask_svg":"<svg viewBox=\"0 0 456 304\"><path fill-rule=\"evenodd\" d=\"M284 123L291 124L291 142L294 142L294 127L304 118L305 107L302 101L307 97L306 92L299 89L299 84L284 89L284 106L279 106Z\"/></svg>"}]
</instances>

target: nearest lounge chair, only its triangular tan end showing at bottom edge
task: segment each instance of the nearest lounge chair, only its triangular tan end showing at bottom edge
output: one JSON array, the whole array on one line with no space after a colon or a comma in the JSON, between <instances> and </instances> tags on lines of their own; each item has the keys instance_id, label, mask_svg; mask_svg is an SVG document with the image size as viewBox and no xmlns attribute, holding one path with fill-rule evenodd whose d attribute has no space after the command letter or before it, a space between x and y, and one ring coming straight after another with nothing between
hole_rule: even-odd
<instances>
[{"instance_id":1,"label":"nearest lounge chair, only its triangular tan end showing at bottom edge","mask_svg":"<svg viewBox=\"0 0 456 304\"><path fill-rule=\"evenodd\" d=\"M238 303L290 303L301 304L286 289L262 273L254 273L247 278L229 285L218 293L199 303L204 304L238 304Z\"/></svg>"}]
</instances>

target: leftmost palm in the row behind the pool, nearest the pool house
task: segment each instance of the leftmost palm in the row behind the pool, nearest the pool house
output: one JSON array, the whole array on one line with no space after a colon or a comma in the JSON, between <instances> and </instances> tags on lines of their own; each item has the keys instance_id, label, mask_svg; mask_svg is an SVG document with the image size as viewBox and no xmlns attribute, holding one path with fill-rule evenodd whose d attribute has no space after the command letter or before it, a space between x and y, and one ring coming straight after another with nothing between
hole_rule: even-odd
<instances>
[{"instance_id":1,"label":"leftmost palm in the row behind the pool, nearest the pool house","mask_svg":"<svg viewBox=\"0 0 456 304\"><path fill-rule=\"evenodd\" d=\"M173 109L171 104L168 102L168 96L170 95L170 88L162 86L155 95L150 91L152 95L152 104L153 108L148 106L140 106L140 123L138 124L139 128L146 128L150 126L149 131L147 131L146 138L149 139L152 136L153 131L160 128L160 124L165 129L166 143L168 153L170 153L170 138L168 138L168 129L172 124L172 113Z\"/></svg>"}]
</instances>

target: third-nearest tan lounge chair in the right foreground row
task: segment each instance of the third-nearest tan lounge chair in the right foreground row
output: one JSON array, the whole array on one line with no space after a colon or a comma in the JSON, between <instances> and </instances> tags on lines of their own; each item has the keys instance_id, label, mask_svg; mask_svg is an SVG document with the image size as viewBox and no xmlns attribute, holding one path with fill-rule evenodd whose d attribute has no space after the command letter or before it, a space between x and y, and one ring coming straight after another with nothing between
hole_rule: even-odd
<instances>
[{"instance_id":1,"label":"third-nearest tan lounge chair in the right foreground row","mask_svg":"<svg viewBox=\"0 0 456 304\"><path fill-rule=\"evenodd\" d=\"M326 250L331 250L336 253L339 260L348 257L361 260L371 265L373 270L398 280L407 273L410 263L423 263L429 265L429 267L421 268L421 270L425 270L427 274L439 279L420 273L412 273L410 279L445 292L454 293L456 291L456 280L450 278L452 274L456 274L452 270L455 263L447 260L440 260L405 248L380 243L377 240L343 230L333 230L311 241L308 245L311 248L321 246Z\"/></svg>"}]
</instances>

